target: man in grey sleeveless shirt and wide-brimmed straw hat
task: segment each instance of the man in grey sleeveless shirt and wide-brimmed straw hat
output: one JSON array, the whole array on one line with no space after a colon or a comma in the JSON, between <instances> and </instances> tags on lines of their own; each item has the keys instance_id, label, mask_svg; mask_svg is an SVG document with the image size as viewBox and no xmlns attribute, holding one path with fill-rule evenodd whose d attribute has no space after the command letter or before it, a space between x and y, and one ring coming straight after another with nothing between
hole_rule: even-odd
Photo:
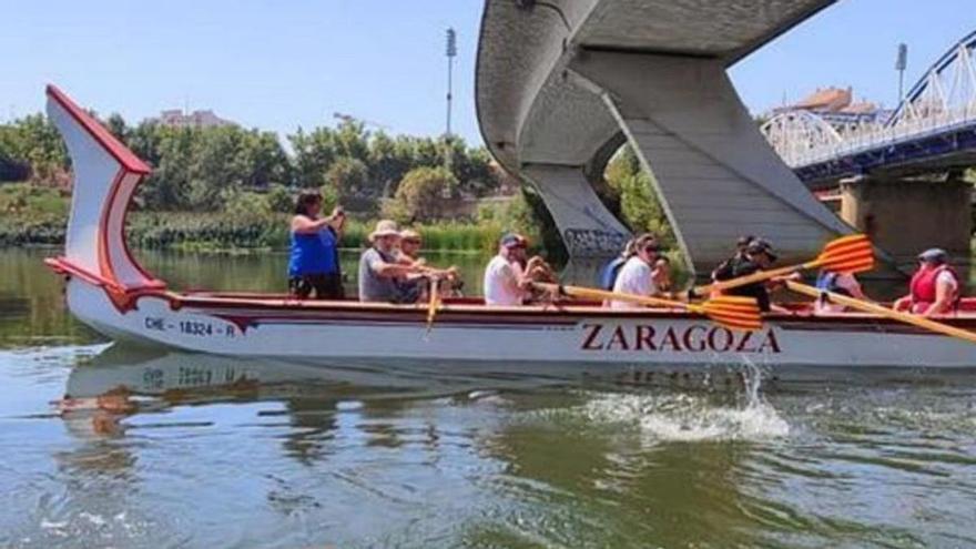
<instances>
[{"instance_id":1,"label":"man in grey sleeveless shirt and wide-brimmed straw hat","mask_svg":"<svg viewBox=\"0 0 976 549\"><path fill-rule=\"evenodd\" d=\"M405 265L396 258L400 232L396 222L382 220L369 234L370 247L359 257L359 301L386 303L417 303L420 294L398 284L409 275L419 274L415 265Z\"/></svg>"}]
</instances>

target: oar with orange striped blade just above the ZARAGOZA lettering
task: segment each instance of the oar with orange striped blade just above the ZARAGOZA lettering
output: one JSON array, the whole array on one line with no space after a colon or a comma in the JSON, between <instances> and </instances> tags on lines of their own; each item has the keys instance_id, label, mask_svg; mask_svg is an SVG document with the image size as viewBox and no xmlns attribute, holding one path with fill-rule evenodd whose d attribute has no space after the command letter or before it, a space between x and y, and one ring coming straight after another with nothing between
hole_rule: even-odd
<instances>
[{"instance_id":1,"label":"oar with orange striped blade just above the ZARAGOZA lettering","mask_svg":"<svg viewBox=\"0 0 976 549\"><path fill-rule=\"evenodd\" d=\"M677 307L700 315L708 316L713 322L732 329L760 329L762 328L762 313L753 297L723 295L709 299L704 303L684 303L675 299L661 297L647 297L642 295L621 294L604 289L586 288L580 286L562 286L557 284L533 283L536 287L548 292L558 292L561 295L581 297L584 299L613 299L620 302L638 303L659 307Z\"/></svg>"}]
</instances>

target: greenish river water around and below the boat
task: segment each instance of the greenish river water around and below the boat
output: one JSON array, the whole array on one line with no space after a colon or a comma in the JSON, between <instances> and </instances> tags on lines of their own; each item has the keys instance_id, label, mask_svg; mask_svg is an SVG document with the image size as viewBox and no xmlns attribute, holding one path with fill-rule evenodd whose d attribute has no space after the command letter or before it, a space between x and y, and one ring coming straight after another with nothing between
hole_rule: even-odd
<instances>
[{"instance_id":1,"label":"greenish river water around and below the boat","mask_svg":"<svg viewBox=\"0 0 976 549\"><path fill-rule=\"evenodd\" d=\"M44 255L0 251L2 548L976 547L973 375L499 387L151 354L73 322ZM144 260L284 284L276 254Z\"/></svg>"}]
</instances>

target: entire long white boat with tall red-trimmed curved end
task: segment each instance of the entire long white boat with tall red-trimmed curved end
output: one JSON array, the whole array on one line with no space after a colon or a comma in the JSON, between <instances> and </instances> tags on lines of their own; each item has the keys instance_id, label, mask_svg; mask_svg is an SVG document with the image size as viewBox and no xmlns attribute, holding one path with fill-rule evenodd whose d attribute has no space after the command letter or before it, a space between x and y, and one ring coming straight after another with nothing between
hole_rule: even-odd
<instances>
[{"instance_id":1,"label":"entire long white boat with tall red-trimmed curved end","mask_svg":"<svg viewBox=\"0 0 976 549\"><path fill-rule=\"evenodd\" d=\"M487 307L479 299L454 299L428 329L426 305L171 291L125 244L129 202L150 167L54 87L48 88L48 114L74 172L65 253L48 263L67 276L72 314L116 340L314 364L464 365L525 375L742 363L976 367L976 345L866 314L814 316L796 308L765 316L762 329L733 332L675 309ZM974 309L976 304L964 303L946 322L974 328Z\"/></svg>"}]
</instances>

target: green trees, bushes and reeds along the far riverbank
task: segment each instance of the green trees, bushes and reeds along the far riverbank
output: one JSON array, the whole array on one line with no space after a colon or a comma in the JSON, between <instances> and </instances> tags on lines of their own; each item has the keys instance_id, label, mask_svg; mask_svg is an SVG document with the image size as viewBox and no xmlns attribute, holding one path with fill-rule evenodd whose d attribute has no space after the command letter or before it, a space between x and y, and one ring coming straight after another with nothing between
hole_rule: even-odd
<instances>
[{"instance_id":1,"label":"green trees, bushes and reeds along the far riverbank","mask_svg":"<svg viewBox=\"0 0 976 549\"><path fill-rule=\"evenodd\" d=\"M150 248L277 248L301 189L342 204L344 244L359 246L379 216L415 226L430 250L485 251L507 231L565 256L540 196L457 138L392 136L346 120L335 128L274 132L237 125L104 125L153 173L141 185L128 235ZM60 244L70 200L70 160L41 114L0 124L0 245ZM2 183L2 181L17 181ZM664 234L662 210L637 156L624 148L607 167L600 195L634 232Z\"/></svg>"}]
</instances>

